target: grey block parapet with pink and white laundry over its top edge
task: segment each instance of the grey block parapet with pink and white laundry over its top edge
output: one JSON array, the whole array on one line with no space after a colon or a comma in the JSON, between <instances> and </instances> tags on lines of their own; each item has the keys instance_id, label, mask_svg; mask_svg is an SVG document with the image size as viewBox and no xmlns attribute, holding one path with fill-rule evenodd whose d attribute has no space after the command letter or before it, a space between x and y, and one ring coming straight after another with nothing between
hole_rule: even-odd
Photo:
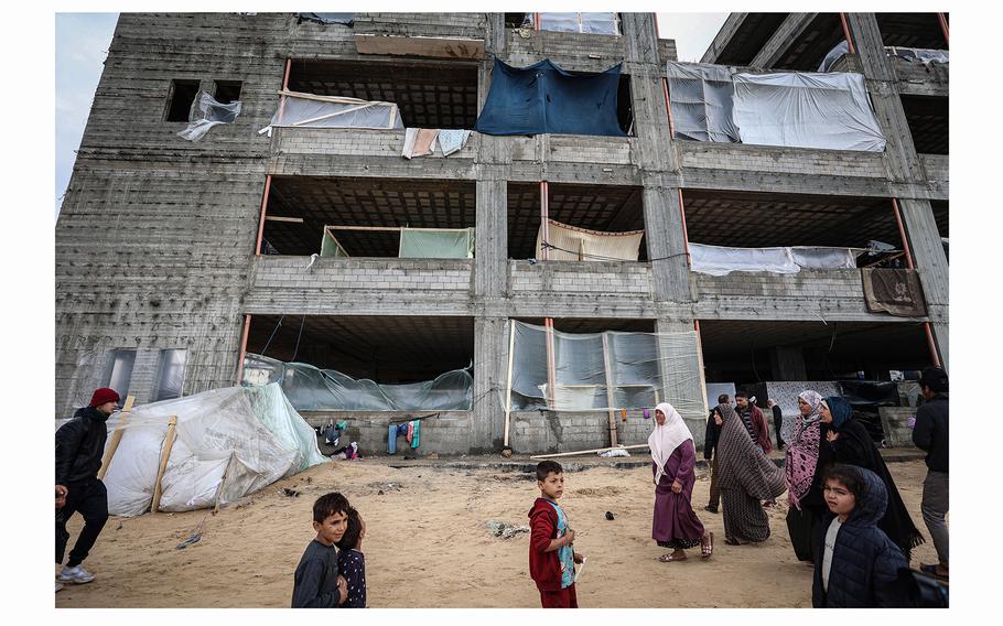
<instances>
[{"instance_id":1,"label":"grey block parapet with pink and white laundry over its top edge","mask_svg":"<svg viewBox=\"0 0 1003 626\"><path fill-rule=\"evenodd\" d=\"M481 136L449 156L400 155L403 130L355 128L274 128L268 173L291 176L376 176L411 179L476 177L474 156Z\"/></svg>"}]
</instances>

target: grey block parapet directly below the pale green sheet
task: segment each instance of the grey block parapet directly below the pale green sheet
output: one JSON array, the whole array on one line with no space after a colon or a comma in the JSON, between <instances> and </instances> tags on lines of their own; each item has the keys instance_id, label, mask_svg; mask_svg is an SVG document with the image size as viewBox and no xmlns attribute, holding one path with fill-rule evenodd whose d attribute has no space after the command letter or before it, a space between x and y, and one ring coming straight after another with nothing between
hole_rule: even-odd
<instances>
[{"instance_id":1,"label":"grey block parapet directly below the pale green sheet","mask_svg":"<svg viewBox=\"0 0 1003 626\"><path fill-rule=\"evenodd\" d=\"M473 259L256 257L245 312L468 315ZM309 266L309 267L308 267Z\"/></svg>"}]
</instances>

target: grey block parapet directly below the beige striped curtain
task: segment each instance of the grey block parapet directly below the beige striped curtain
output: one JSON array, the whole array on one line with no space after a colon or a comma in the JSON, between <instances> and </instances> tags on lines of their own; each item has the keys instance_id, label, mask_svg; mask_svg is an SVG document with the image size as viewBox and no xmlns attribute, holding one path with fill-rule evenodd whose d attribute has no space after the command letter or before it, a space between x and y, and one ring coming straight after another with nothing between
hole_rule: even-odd
<instances>
[{"instance_id":1,"label":"grey block parapet directly below the beige striped curtain","mask_svg":"<svg viewBox=\"0 0 1003 626\"><path fill-rule=\"evenodd\" d=\"M648 263L509 260L511 315L654 317Z\"/></svg>"}]
</instances>

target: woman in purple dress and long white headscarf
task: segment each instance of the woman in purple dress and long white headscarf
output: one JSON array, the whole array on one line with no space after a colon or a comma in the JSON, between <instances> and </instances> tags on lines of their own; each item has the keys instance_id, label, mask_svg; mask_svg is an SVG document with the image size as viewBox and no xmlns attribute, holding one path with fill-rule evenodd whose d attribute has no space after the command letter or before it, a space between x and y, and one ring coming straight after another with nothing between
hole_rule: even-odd
<instances>
[{"instance_id":1,"label":"woman in purple dress and long white headscarf","mask_svg":"<svg viewBox=\"0 0 1003 626\"><path fill-rule=\"evenodd\" d=\"M655 408L655 430L648 436L651 473L655 475L655 522L651 538L671 548L658 558L662 563L684 561L686 549L701 547L707 559L714 551L714 533L705 532L690 499L697 482L697 449L682 417L668 402Z\"/></svg>"}]
</instances>

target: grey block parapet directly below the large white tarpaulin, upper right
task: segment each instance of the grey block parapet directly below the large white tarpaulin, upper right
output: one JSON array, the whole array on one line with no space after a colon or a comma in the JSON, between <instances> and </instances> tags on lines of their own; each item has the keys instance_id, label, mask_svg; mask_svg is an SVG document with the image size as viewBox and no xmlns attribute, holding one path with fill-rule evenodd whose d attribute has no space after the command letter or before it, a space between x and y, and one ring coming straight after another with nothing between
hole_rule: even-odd
<instances>
[{"instance_id":1,"label":"grey block parapet directly below the large white tarpaulin, upper right","mask_svg":"<svg viewBox=\"0 0 1003 626\"><path fill-rule=\"evenodd\" d=\"M887 196L878 152L673 141L687 188Z\"/></svg>"}]
</instances>

